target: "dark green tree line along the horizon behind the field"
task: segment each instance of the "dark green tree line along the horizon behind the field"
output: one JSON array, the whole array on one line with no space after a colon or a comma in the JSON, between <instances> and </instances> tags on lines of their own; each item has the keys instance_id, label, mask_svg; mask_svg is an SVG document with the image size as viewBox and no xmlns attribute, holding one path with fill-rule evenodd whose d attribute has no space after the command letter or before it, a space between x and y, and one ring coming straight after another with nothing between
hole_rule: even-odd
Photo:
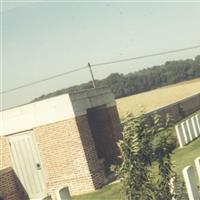
<instances>
[{"instance_id":1,"label":"dark green tree line along the horizon behind the field","mask_svg":"<svg viewBox=\"0 0 200 200\"><path fill-rule=\"evenodd\" d=\"M197 77L200 77L200 55L194 59L167 61L163 65L153 66L128 74L112 73L105 79L95 80L95 83L97 87L109 87L115 98L120 98ZM89 81L42 95L35 98L32 102L92 87L92 82Z\"/></svg>"}]
</instances>

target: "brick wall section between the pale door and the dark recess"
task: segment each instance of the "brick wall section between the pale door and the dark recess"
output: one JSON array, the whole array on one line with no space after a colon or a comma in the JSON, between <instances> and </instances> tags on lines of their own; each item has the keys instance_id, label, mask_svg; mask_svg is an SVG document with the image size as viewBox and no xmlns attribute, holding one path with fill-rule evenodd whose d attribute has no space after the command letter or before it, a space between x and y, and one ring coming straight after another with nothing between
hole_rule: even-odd
<instances>
[{"instance_id":1,"label":"brick wall section between the pale door and the dark recess","mask_svg":"<svg viewBox=\"0 0 200 200\"><path fill-rule=\"evenodd\" d=\"M94 191L91 171L103 183L86 116L38 127L34 133L49 193L61 186L71 194Z\"/></svg>"}]
</instances>

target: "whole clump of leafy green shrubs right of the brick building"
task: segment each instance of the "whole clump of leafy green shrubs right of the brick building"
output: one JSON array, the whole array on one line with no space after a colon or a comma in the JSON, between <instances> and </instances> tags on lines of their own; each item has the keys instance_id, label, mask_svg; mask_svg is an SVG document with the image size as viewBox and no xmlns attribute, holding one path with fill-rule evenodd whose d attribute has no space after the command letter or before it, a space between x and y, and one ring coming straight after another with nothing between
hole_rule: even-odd
<instances>
[{"instance_id":1,"label":"whole clump of leafy green shrubs right of the brick building","mask_svg":"<svg viewBox=\"0 0 200 200\"><path fill-rule=\"evenodd\" d=\"M172 123L164 124L159 115L135 118L129 114L123 121L123 140L119 142L122 163L113 167L123 185L127 200L168 200L173 194L170 181L174 176L171 163ZM161 134L161 135L160 135ZM154 138L159 142L154 145ZM155 156L156 154L156 156ZM152 178L152 162L158 161L158 179Z\"/></svg>"}]
</instances>

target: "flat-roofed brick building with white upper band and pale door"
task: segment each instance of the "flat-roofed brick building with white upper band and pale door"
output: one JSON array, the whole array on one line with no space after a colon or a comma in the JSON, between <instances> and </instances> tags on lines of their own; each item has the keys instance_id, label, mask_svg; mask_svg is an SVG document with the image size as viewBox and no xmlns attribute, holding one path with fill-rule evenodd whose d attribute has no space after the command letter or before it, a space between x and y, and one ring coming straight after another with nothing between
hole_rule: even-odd
<instances>
[{"instance_id":1,"label":"flat-roofed brick building with white upper band and pale door","mask_svg":"<svg viewBox=\"0 0 200 200\"><path fill-rule=\"evenodd\" d=\"M107 183L110 165L118 162L120 121L107 88L60 95L1 111L1 116L0 170L12 167L14 172L7 171L30 199L61 186L73 195L94 191ZM9 198L3 187L0 183L0 196L22 200Z\"/></svg>"}]
</instances>

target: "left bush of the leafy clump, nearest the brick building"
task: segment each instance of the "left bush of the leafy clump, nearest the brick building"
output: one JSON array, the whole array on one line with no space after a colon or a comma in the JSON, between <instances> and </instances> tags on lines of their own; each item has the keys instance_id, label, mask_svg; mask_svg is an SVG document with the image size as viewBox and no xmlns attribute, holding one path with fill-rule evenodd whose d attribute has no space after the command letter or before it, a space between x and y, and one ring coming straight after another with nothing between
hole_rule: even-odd
<instances>
[{"instance_id":1,"label":"left bush of the leafy clump, nearest the brick building","mask_svg":"<svg viewBox=\"0 0 200 200\"><path fill-rule=\"evenodd\" d=\"M144 118L134 118L129 114L123 121L123 140L119 142L122 164L113 169L123 184L123 192L128 200L153 199L149 164L151 146ZM148 149L147 149L148 148Z\"/></svg>"}]
</instances>

